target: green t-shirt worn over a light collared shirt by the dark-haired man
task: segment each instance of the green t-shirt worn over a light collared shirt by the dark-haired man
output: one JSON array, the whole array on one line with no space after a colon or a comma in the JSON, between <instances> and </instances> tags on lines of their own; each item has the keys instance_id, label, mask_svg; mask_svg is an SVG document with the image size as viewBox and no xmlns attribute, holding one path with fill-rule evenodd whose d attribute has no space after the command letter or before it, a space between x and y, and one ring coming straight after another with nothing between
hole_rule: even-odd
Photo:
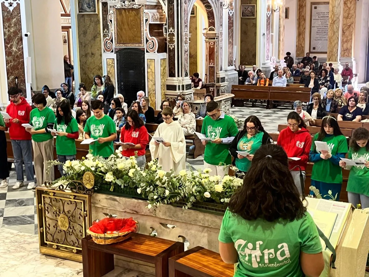
<instances>
[{"instance_id":1,"label":"green t-shirt worn over a light collared shirt by the dark-haired man","mask_svg":"<svg viewBox=\"0 0 369 277\"><path fill-rule=\"evenodd\" d=\"M206 116L201 133L214 140L215 138L234 137L238 134L238 129L232 117L224 114L224 118L219 117L217 120ZM231 164L229 148L229 144L208 142L205 147L204 161L213 165L219 165L219 163Z\"/></svg>"}]
</instances>

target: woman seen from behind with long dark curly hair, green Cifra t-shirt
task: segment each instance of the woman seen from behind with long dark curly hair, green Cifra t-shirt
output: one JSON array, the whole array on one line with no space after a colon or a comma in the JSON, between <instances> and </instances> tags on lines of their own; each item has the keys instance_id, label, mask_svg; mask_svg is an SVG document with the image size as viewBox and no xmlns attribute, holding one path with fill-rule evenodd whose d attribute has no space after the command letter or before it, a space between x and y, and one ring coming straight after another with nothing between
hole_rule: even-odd
<instances>
[{"instance_id":1,"label":"woman seen from behind with long dark curly hair, green Cifra t-shirt","mask_svg":"<svg viewBox=\"0 0 369 277\"><path fill-rule=\"evenodd\" d=\"M229 201L219 253L238 263L235 276L319 276L324 269L317 228L287 159L282 147L261 146Z\"/></svg>"}]
</instances>

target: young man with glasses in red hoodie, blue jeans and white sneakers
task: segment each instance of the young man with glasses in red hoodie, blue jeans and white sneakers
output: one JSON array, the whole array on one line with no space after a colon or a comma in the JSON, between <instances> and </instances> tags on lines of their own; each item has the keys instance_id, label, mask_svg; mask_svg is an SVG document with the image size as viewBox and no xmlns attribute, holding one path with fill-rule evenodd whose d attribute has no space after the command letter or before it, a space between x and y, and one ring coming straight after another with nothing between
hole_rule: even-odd
<instances>
[{"instance_id":1,"label":"young man with glasses in red hoodie, blue jeans and white sneakers","mask_svg":"<svg viewBox=\"0 0 369 277\"><path fill-rule=\"evenodd\" d=\"M8 90L10 104L6 107L6 112L11 119L4 119L6 127L9 128L11 147L13 148L14 166L17 172L17 182L13 189L23 186L23 162L27 176L28 185L35 187L33 165L32 165L32 142L31 134L25 130L22 124L30 122L31 106L22 97L22 90L12 86ZM0 186L6 187L6 185Z\"/></svg>"}]
</instances>

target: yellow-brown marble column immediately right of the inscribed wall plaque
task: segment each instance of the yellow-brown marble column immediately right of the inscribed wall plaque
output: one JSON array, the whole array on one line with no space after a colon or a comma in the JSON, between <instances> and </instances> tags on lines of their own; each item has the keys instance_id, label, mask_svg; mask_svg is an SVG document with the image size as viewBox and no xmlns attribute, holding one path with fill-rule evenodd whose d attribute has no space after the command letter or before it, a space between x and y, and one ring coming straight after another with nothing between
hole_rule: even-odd
<instances>
[{"instance_id":1,"label":"yellow-brown marble column immediately right of the inscribed wall plaque","mask_svg":"<svg viewBox=\"0 0 369 277\"><path fill-rule=\"evenodd\" d=\"M341 18L341 0L331 0L329 2L328 21L328 50L327 62L331 62L333 67L339 67L339 24Z\"/></svg>"}]
</instances>

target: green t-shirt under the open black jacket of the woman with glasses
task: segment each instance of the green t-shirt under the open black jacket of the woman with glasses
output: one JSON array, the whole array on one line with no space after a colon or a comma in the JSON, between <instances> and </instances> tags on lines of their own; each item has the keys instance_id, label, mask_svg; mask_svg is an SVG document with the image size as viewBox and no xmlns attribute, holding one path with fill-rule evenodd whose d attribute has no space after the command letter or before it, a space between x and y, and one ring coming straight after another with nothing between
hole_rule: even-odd
<instances>
[{"instance_id":1,"label":"green t-shirt under the open black jacket of the woman with glasses","mask_svg":"<svg viewBox=\"0 0 369 277\"><path fill-rule=\"evenodd\" d=\"M255 136L248 138L246 132L244 136L238 141L237 150L247 151L248 153L254 155L256 150L258 150L262 145L263 135L263 132L258 132L255 134ZM249 168L251 167L251 161L249 161L247 158L236 158L235 163L236 167L244 172L249 171Z\"/></svg>"}]
</instances>

